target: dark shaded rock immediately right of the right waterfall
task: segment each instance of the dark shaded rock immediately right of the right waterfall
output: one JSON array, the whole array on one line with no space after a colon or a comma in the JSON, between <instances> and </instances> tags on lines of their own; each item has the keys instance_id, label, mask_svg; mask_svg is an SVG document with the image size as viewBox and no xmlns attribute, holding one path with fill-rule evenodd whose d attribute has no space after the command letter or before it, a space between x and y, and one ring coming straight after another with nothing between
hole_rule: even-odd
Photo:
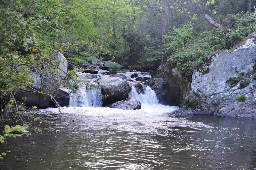
<instances>
[{"instance_id":1,"label":"dark shaded rock immediately right of the right waterfall","mask_svg":"<svg viewBox=\"0 0 256 170\"><path fill-rule=\"evenodd\" d=\"M145 81L145 85L149 86L155 91L156 97L160 104L169 104L169 98L167 96L166 87L162 78L150 78Z\"/></svg>"}]
</instances>

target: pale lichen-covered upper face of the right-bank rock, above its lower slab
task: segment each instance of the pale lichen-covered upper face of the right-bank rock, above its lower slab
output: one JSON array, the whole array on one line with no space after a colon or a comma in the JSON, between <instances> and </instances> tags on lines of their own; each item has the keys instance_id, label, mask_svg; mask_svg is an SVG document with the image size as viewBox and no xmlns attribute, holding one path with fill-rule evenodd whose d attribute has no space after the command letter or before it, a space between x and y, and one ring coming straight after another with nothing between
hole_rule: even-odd
<instances>
[{"instance_id":1,"label":"pale lichen-covered upper face of the right-bank rock, above its lower slab","mask_svg":"<svg viewBox=\"0 0 256 170\"><path fill-rule=\"evenodd\" d=\"M256 59L256 44L254 38L248 39L244 45L232 52L224 51L212 55L209 65L194 71L191 89L200 97L213 93L222 93L230 89L227 80L230 77L238 77L242 72L252 72Z\"/></svg>"}]
</instances>

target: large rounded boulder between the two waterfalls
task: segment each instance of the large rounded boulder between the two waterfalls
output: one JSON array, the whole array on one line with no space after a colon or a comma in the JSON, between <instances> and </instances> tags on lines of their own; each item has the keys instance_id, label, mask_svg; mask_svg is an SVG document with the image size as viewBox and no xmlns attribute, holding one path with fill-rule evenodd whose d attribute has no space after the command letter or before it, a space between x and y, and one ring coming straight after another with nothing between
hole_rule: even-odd
<instances>
[{"instance_id":1,"label":"large rounded boulder between the two waterfalls","mask_svg":"<svg viewBox=\"0 0 256 170\"><path fill-rule=\"evenodd\" d=\"M110 104L113 101L125 99L131 91L132 86L125 80L119 77L102 76L97 79L97 83L101 87L104 105Z\"/></svg>"}]
</instances>

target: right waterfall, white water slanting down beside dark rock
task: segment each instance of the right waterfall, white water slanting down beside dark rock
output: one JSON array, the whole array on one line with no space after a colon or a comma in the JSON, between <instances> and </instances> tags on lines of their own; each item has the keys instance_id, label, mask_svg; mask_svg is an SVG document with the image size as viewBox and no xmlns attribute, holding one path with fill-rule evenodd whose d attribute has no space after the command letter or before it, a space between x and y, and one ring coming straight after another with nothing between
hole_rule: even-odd
<instances>
[{"instance_id":1,"label":"right waterfall, white water slanting down beside dark rock","mask_svg":"<svg viewBox=\"0 0 256 170\"><path fill-rule=\"evenodd\" d=\"M128 96L139 100L141 104L158 104L158 99L154 90L144 84L132 84L132 90Z\"/></svg>"}]
</instances>

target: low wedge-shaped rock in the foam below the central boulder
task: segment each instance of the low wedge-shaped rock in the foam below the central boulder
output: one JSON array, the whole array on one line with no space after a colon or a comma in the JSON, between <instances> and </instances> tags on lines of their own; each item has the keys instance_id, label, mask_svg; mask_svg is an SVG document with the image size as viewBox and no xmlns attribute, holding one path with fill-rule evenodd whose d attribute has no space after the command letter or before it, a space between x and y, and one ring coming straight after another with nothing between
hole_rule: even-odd
<instances>
[{"instance_id":1,"label":"low wedge-shaped rock in the foam below the central boulder","mask_svg":"<svg viewBox=\"0 0 256 170\"><path fill-rule=\"evenodd\" d=\"M133 97L117 101L111 105L108 105L110 108L124 109L124 110L136 110L141 109L140 101L136 100Z\"/></svg>"}]
</instances>

